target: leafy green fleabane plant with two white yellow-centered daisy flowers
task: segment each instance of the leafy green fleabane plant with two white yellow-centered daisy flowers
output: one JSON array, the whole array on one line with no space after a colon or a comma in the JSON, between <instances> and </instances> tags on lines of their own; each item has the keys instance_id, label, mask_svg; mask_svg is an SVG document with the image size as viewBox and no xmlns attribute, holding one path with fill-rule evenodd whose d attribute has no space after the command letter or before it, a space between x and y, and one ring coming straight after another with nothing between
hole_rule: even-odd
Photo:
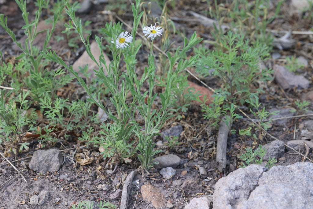
<instances>
[{"instance_id":1,"label":"leafy green fleabane plant with two white yellow-centered daisy flowers","mask_svg":"<svg viewBox=\"0 0 313 209\"><path fill-rule=\"evenodd\" d=\"M148 172L149 168L153 166L153 156L159 153L161 150L155 150L155 143L153 137L160 134L165 121L172 117L174 110L169 109L169 102L171 96L171 89L173 85L176 85L175 78L178 73L188 66L194 65L196 57L191 57L190 60L182 60L185 57L184 54L190 50L195 44L199 43L201 39L196 37L194 33L189 42L187 39L184 41L182 50L177 50L175 55L168 53L170 60L170 68L168 69L166 90L163 93L154 93L153 87L155 86L155 57L153 55L153 44L151 44L151 53L148 55L148 66L145 67L141 77L137 77L136 69L136 54L141 48L141 44L135 46L134 39L137 33L138 25L143 12L139 13L140 0L136 0L136 4L132 4L133 12L133 28L130 33L122 31L122 24L109 24L106 23L105 27L101 30L103 33L111 39L111 43L107 47L111 50L113 60L109 67L105 63L105 59L102 52L102 39L103 37L95 36L95 41L100 50L99 62L90 51L89 38L84 39L83 31L81 27L81 21L77 21L75 13L72 7L67 4L66 12L72 19L72 22L66 24L69 29L74 29L79 35L82 42L85 44L86 52L90 58L98 65L99 70L94 70L95 75L100 81L109 89L111 93L110 102L115 107L115 110L106 109L102 102L100 102L100 92L98 97L93 95L85 81L73 70L72 66L67 66L65 62L54 51L44 53L44 57L55 61L63 65L69 70L85 88L90 98L88 101L94 102L100 108L102 108L108 115L108 122L102 123L102 137L95 138L91 142L95 145L102 146L105 151L102 153L104 157L110 157L115 160L116 165L121 160L125 162L131 161L131 156L138 153L138 159L141 162L141 169ZM157 36L161 36L163 29L160 26L145 27L143 33L148 35L149 38L155 39ZM120 69L119 64L121 59L124 59L126 69L123 71ZM177 64L174 69L174 65ZM106 73L105 73L106 72ZM148 90L143 92L142 86L147 84ZM162 107L159 110L153 109L153 102L159 98L162 103ZM115 113L113 113L115 112ZM136 122L136 119L140 115L144 118L145 124L143 126ZM138 144L134 144L138 138Z\"/></svg>"}]
</instances>

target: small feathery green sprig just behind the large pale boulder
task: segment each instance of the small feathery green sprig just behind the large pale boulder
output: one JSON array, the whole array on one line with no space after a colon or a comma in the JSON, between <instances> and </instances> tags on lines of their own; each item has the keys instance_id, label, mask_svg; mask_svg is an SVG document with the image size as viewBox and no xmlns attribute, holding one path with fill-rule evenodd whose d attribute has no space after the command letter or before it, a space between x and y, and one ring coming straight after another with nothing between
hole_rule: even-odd
<instances>
[{"instance_id":1,"label":"small feathery green sprig just behind the large pale boulder","mask_svg":"<svg viewBox=\"0 0 313 209\"><path fill-rule=\"evenodd\" d=\"M245 164L242 162L242 165L239 165L239 168L247 167L250 164L262 164L262 159L266 153L266 149L260 144L258 149L252 150L251 147L245 148L247 151L239 156L240 159L244 160ZM258 155L260 158L258 158ZM271 168L275 165L277 160L275 158L270 158L269 161L266 163L266 167Z\"/></svg>"}]
</instances>

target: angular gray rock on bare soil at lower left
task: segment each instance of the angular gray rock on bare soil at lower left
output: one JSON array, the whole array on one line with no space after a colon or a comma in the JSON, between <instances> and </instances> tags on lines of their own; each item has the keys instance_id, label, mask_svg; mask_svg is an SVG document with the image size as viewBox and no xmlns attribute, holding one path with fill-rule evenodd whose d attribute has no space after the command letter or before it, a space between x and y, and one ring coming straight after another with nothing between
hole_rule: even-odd
<instances>
[{"instance_id":1,"label":"angular gray rock on bare soil at lower left","mask_svg":"<svg viewBox=\"0 0 313 209\"><path fill-rule=\"evenodd\" d=\"M41 174L54 172L60 169L63 155L58 149L37 150L29 163L29 168Z\"/></svg>"}]
</instances>

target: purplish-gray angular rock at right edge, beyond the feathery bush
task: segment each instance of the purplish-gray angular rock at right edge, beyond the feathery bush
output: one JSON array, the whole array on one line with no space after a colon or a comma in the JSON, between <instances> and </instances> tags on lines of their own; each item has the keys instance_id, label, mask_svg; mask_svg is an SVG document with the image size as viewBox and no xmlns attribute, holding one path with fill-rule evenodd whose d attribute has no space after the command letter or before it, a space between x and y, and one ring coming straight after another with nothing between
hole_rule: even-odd
<instances>
[{"instance_id":1,"label":"purplish-gray angular rock at right edge, beyond the feathery bush","mask_svg":"<svg viewBox=\"0 0 313 209\"><path fill-rule=\"evenodd\" d=\"M275 81L283 88L290 89L296 86L298 89L307 89L310 81L304 76L289 72L284 66L274 65Z\"/></svg>"}]
</instances>

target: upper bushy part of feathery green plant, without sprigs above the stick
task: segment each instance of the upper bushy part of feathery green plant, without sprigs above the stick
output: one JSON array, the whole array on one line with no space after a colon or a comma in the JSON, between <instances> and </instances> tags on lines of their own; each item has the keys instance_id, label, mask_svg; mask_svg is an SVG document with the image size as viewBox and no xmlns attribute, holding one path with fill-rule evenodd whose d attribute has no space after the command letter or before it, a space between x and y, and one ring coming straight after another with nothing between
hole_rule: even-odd
<instances>
[{"instance_id":1,"label":"upper bushy part of feathery green plant, without sprigs above the stick","mask_svg":"<svg viewBox=\"0 0 313 209\"><path fill-rule=\"evenodd\" d=\"M225 89L225 96L229 102L242 105L250 96L255 81L269 81L273 72L269 69L259 69L261 60L269 57L269 48L258 41L249 46L244 36L228 31L221 40L222 50L210 52L204 46L196 51L200 55L197 71L203 76L210 75L209 70L214 69L213 75L221 82ZM256 89L262 92L261 89Z\"/></svg>"}]
</instances>

